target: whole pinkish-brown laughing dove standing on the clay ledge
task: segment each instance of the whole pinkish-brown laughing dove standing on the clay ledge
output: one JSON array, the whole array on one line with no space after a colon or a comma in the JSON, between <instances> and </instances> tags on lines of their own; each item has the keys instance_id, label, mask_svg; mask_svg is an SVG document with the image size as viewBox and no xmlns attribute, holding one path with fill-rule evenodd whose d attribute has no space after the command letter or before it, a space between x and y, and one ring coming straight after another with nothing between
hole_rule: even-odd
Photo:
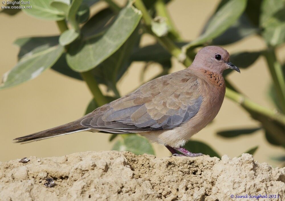
<instances>
[{"instance_id":1,"label":"whole pinkish-brown laughing dove standing on the clay ledge","mask_svg":"<svg viewBox=\"0 0 285 201\"><path fill-rule=\"evenodd\" d=\"M42 140L83 130L135 132L166 146L174 156L181 156L178 152L183 156L201 156L182 146L219 112L225 96L222 73L229 68L240 72L229 61L225 49L204 47L187 69L151 80L76 121L15 140Z\"/></svg>"}]
</instances>

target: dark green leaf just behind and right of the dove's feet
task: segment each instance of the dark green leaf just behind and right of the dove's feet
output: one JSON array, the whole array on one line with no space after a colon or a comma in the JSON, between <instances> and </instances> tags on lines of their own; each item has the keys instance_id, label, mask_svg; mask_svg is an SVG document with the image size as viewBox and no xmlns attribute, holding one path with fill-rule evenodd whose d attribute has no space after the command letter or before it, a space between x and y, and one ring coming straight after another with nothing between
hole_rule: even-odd
<instances>
[{"instance_id":1,"label":"dark green leaf just behind and right of the dove's feet","mask_svg":"<svg viewBox=\"0 0 285 201\"><path fill-rule=\"evenodd\" d=\"M215 150L213 150L209 145L205 144L204 142L190 140L183 147L192 153L202 153L205 155L209 155L210 157L221 158L221 156Z\"/></svg>"}]
</instances>

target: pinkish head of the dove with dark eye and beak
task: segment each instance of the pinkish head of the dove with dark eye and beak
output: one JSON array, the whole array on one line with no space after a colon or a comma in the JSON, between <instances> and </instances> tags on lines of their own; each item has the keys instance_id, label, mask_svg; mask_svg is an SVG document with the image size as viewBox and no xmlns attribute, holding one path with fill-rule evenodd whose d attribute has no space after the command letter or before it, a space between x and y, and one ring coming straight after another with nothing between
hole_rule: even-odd
<instances>
[{"instance_id":1,"label":"pinkish head of the dove with dark eye and beak","mask_svg":"<svg viewBox=\"0 0 285 201\"><path fill-rule=\"evenodd\" d=\"M203 47L198 51L191 68L209 70L222 74L225 69L233 69L240 72L239 68L230 62L227 50L218 46Z\"/></svg>"}]
</instances>

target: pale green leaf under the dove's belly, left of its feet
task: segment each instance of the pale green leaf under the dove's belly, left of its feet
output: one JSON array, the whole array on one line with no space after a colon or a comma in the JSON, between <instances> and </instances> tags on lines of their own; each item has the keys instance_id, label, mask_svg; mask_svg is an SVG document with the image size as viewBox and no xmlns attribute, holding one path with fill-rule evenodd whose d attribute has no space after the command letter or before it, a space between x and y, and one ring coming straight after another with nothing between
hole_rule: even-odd
<instances>
[{"instance_id":1,"label":"pale green leaf under the dove's belly, left of its feet","mask_svg":"<svg viewBox=\"0 0 285 201\"><path fill-rule=\"evenodd\" d=\"M130 151L137 155L141 154L154 155L154 151L148 140L136 134L126 134L123 137L123 140L118 140L114 144L112 150Z\"/></svg>"}]
</instances>

